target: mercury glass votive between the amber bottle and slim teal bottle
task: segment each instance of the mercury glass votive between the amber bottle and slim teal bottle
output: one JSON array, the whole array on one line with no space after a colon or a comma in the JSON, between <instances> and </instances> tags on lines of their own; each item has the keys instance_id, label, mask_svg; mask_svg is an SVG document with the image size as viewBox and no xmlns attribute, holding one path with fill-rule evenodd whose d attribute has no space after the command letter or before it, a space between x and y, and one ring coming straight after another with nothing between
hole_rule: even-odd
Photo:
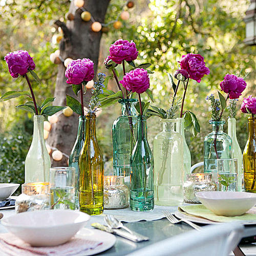
<instances>
[{"instance_id":1,"label":"mercury glass votive between the amber bottle and slim teal bottle","mask_svg":"<svg viewBox=\"0 0 256 256\"><path fill-rule=\"evenodd\" d=\"M122 209L129 206L129 189L123 176L104 176L104 209Z\"/></svg>"}]
</instances>

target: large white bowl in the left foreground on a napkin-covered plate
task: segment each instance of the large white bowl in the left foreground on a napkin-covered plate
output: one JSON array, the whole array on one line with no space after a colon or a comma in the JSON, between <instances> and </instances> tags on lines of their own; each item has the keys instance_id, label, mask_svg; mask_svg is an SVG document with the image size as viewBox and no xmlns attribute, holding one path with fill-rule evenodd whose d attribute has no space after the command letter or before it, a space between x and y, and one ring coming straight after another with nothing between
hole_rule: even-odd
<instances>
[{"instance_id":1,"label":"large white bowl in the left foreground on a napkin-covered plate","mask_svg":"<svg viewBox=\"0 0 256 256\"><path fill-rule=\"evenodd\" d=\"M89 219L80 211L38 210L4 218L1 223L32 246L55 246L69 241Z\"/></svg>"}]
</instances>

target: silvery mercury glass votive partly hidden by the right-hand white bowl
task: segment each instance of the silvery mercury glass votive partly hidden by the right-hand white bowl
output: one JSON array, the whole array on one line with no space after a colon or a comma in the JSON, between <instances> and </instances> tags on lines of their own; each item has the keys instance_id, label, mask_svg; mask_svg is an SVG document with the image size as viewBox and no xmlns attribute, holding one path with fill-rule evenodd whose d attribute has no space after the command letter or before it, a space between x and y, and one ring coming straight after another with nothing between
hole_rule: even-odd
<instances>
[{"instance_id":1,"label":"silvery mercury glass votive partly hidden by the right-hand white bowl","mask_svg":"<svg viewBox=\"0 0 256 256\"><path fill-rule=\"evenodd\" d=\"M183 185L184 203L200 204L196 193L200 191L216 191L217 186L212 181L212 174L187 174Z\"/></svg>"}]
</instances>

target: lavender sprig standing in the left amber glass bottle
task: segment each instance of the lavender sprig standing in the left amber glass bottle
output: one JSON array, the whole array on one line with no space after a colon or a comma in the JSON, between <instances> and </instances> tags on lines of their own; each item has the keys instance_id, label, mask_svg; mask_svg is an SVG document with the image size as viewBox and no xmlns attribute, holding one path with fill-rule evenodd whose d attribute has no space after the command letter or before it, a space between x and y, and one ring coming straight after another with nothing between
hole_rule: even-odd
<instances>
[{"instance_id":1,"label":"lavender sprig standing in the left amber glass bottle","mask_svg":"<svg viewBox=\"0 0 256 256\"><path fill-rule=\"evenodd\" d=\"M95 113L97 111L97 108L101 106L99 101L99 95L103 93L104 88L104 80L105 80L105 74L99 73L97 74L97 81L94 83L94 87L92 89L92 97L89 102L89 113Z\"/></svg>"}]
</instances>

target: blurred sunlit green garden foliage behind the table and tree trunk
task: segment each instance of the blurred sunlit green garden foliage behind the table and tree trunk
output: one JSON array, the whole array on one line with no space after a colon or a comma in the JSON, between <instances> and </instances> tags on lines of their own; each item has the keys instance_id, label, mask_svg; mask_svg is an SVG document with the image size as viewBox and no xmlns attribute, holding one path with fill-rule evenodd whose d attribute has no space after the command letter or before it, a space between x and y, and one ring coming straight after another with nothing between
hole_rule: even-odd
<instances>
[{"instance_id":1,"label":"blurred sunlit green garden foliage behind the table and tree trunk","mask_svg":"<svg viewBox=\"0 0 256 256\"><path fill-rule=\"evenodd\" d=\"M104 0L102 0L104 1ZM127 20L121 17L121 27L110 23L109 31L102 33L98 72L110 75L103 65L109 46L118 38L134 40L139 51L136 63L150 62L153 105L168 109L172 88L166 72L178 69L178 60L186 53L199 53L210 69L201 83L192 80L189 84L184 110L193 111L201 125L201 133L194 137L186 132L192 164L203 160L203 140L211 132L209 104L205 97L217 96L219 83L226 73L249 73L247 88L242 96L256 95L255 46L246 46L243 18L249 0L137 0L127 9ZM123 0L112 0L106 12L105 23L115 20L123 11ZM70 7L67 0L1 0L0 1L0 95L10 90L27 90L25 79L13 79L4 56L11 51L27 50L36 63L36 73L41 78L39 85L33 81L36 97L53 95L58 66L50 61L50 54L59 48L61 31L53 26L54 20L65 22ZM116 28L115 28L116 27ZM101 32L99 32L101 33ZM58 37L60 35L60 37ZM59 65L63 65L62 63ZM121 68L121 67L120 67ZM121 70L119 72L121 74ZM120 77L121 80L121 77ZM110 80L109 87L115 88ZM240 97L240 108L243 97ZM148 100L144 95L144 100ZM24 182L24 162L32 139L32 114L15 109L24 99L16 98L0 102L0 182ZM103 109L97 118L97 138L103 151L106 169L112 164L112 123L120 115L120 106ZM228 112L224 114L225 119ZM247 140L246 115L238 111L237 137L241 149ZM147 122L148 140L161 130L157 117ZM225 126L227 129L227 125ZM77 131L72 131L76 134ZM68 152L66 152L68 154Z\"/></svg>"}]
</instances>

